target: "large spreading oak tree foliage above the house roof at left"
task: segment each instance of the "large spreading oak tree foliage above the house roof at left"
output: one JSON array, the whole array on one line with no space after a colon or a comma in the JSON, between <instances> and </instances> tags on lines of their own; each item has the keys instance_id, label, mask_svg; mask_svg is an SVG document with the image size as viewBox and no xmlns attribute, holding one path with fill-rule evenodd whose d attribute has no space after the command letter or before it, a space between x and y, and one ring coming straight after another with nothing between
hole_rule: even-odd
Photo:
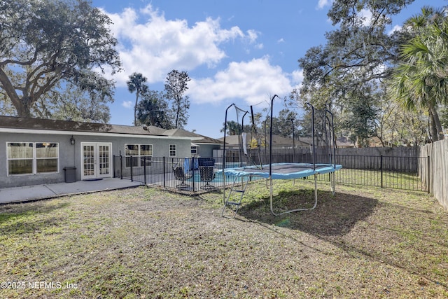
<instances>
[{"instance_id":1,"label":"large spreading oak tree foliage above the house roof at left","mask_svg":"<svg viewBox=\"0 0 448 299\"><path fill-rule=\"evenodd\" d=\"M99 98L111 101L113 83L92 76L96 68L120 70L107 15L85 0L1 1L0 8L1 93L18 116L48 115L60 83L90 99L101 90Z\"/></svg>"}]
</instances>

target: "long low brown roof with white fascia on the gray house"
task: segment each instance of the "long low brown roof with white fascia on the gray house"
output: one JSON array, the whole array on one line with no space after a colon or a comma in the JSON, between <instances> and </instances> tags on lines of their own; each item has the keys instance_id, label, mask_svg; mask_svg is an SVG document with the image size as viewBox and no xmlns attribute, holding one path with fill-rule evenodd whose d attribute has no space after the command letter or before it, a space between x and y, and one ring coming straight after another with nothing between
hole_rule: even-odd
<instances>
[{"instance_id":1,"label":"long low brown roof with white fascia on the gray house","mask_svg":"<svg viewBox=\"0 0 448 299\"><path fill-rule=\"evenodd\" d=\"M135 127L130 125L110 125L104 123L83 123L71 120L50 120L43 118L19 118L0 116L0 132L29 132L48 134L115 134L147 137L173 137L165 134L165 129L153 125ZM176 137L197 140L198 137Z\"/></svg>"}]
</instances>

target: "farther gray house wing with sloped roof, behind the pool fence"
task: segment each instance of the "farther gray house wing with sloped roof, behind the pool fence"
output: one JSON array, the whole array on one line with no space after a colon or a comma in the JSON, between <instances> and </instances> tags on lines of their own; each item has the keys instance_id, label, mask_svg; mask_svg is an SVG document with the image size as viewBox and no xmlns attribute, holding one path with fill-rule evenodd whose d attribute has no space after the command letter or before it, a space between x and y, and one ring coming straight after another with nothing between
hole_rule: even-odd
<instances>
[{"instance_id":1,"label":"farther gray house wing with sloped roof, behind the pool fence","mask_svg":"<svg viewBox=\"0 0 448 299\"><path fill-rule=\"evenodd\" d=\"M200 138L192 142L191 155L194 157L210 158L213 157L214 150L221 148L223 141L206 137L204 135L188 132L182 129L166 130L165 134L171 137L194 137Z\"/></svg>"}]
</instances>

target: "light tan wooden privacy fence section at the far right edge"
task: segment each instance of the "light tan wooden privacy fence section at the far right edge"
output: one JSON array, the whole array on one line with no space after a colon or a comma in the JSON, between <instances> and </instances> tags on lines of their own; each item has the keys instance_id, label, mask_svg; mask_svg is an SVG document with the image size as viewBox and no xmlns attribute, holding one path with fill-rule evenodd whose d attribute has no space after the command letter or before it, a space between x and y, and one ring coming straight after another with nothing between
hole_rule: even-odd
<instances>
[{"instance_id":1,"label":"light tan wooden privacy fence section at the far right edge","mask_svg":"<svg viewBox=\"0 0 448 299\"><path fill-rule=\"evenodd\" d=\"M429 165L420 165L419 174L430 193L448 210L448 140L420 146L420 155L430 156Z\"/></svg>"}]
</instances>

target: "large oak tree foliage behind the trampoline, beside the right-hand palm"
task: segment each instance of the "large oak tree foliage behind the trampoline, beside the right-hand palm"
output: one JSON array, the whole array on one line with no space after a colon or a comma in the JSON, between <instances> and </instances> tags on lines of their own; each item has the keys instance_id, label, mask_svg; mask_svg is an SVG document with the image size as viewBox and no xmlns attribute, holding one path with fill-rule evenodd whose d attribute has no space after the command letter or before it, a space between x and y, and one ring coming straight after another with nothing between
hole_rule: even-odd
<instances>
[{"instance_id":1,"label":"large oak tree foliage behind the trampoline, beside the right-hand palm","mask_svg":"<svg viewBox=\"0 0 448 299\"><path fill-rule=\"evenodd\" d=\"M411 115L393 104L395 97L388 92L389 85L384 84L395 76L392 68L404 58L400 56L400 45L418 35L435 15L443 15L426 7L422 9L423 17L407 21L401 30L386 32L392 17L410 3L412 0L334 1L328 16L337 29L326 34L324 46L310 48L300 58L304 81L300 90L291 92L290 100L329 109L335 116L337 134L351 136L360 146L367 146L370 137L378 137L381 144L423 142L421 135L425 130L420 118L424 114ZM412 50L408 49L409 55L415 59L416 53L426 48L423 43L415 43ZM414 71L417 78L423 69ZM413 101L419 101L415 93L410 95ZM433 123L437 123L436 112L430 111L430 116L435 116Z\"/></svg>"}]
</instances>

